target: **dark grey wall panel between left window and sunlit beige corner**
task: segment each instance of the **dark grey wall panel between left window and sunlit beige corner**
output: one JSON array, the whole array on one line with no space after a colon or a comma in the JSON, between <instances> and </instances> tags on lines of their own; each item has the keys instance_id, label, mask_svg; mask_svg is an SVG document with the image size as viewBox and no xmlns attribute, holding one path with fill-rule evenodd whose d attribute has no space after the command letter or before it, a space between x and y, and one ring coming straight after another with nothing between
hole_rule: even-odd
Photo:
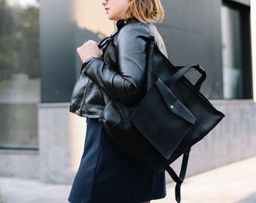
<instances>
[{"instance_id":1,"label":"dark grey wall panel between left window and sunlit beige corner","mask_svg":"<svg viewBox=\"0 0 256 203\"><path fill-rule=\"evenodd\" d=\"M67 102L75 83L75 22L70 0L41 2L41 102Z\"/></svg>"}]
</instances>

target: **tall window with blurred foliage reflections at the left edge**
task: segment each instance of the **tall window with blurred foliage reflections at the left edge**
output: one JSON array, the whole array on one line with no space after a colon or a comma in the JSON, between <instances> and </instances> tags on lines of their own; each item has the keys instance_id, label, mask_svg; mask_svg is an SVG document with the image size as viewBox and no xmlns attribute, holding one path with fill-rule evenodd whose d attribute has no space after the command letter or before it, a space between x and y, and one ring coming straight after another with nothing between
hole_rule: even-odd
<instances>
[{"instance_id":1,"label":"tall window with blurred foliage reflections at the left edge","mask_svg":"<svg viewBox=\"0 0 256 203\"><path fill-rule=\"evenodd\" d=\"M40 102L36 1L0 0L0 148L38 146Z\"/></svg>"}]
</instances>

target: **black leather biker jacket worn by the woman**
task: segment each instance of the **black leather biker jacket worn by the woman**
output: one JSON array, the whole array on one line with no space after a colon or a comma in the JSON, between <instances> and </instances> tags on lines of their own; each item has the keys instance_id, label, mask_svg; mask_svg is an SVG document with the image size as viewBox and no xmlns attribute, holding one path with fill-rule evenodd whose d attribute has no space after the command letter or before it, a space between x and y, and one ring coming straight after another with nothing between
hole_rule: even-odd
<instances>
[{"instance_id":1,"label":"black leather biker jacket worn by the woman","mask_svg":"<svg viewBox=\"0 0 256 203\"><path fill-rule=\"evenodd\" d=\"M70 105L70 111L78 116L99 118L109 98L135 105L143 95L148 42L155 41L166 55L153 24L120 20L117 30L103 49L102 59L92 57L81 68L87 83L84 98L78 99L73 92Z\"/></svg>"}]
</instances>

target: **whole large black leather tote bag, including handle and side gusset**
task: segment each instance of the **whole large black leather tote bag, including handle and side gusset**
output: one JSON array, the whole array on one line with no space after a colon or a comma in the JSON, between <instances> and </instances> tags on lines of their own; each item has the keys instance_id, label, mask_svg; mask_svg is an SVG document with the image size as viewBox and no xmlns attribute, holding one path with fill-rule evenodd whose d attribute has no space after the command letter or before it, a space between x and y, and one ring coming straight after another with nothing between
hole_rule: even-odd
<instances>
[{"instance_id":1,"label":"whole large black leather tote bag, including handle and side gusset","mask_svg":"<svg viewBox=\"0 0 256 203\"><path fill-rule=\"evenodd\" d=\"M148 47L147 93L136 107L111 99L99 119L128 156L160 172L204 138L224 117L200 92L206 72L200 65L175 67L153 42ZM184 74L195 68L195 85Z\"/></svg>"}]
</instances>

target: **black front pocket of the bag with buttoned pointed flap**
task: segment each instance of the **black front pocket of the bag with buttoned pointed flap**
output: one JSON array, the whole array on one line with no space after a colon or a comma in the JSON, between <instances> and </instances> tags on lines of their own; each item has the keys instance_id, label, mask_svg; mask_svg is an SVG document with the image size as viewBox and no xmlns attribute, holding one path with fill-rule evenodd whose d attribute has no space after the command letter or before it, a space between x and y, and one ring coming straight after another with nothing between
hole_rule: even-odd
<instances>
[{"instance_id":1,"label":"black front pocket of the bag with buttoned pointed flap","mask_svg":"<svg viewBox=\"0 0 256 203\"><path fill-rule=\"evenodd\" d=\"M196 117L159 78L142 98L130 119L165 159L172 156L196 123Z\"/></svg>"}]
</instances>

